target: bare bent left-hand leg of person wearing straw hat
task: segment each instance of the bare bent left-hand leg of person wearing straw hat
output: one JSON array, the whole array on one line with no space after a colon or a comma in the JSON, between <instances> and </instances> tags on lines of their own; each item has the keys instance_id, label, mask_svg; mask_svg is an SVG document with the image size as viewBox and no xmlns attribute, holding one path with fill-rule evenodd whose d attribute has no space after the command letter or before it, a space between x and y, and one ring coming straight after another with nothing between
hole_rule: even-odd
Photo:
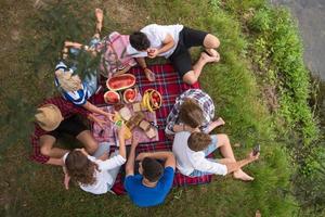
<instances>
[{"instance_id":1,"label":"bare bent left-hand leg of person wearing straw hat","mask_svg":"<svg viewBox=\"0 0 325 217\"><path fill-rule=\"evenodd\" d=\"M68 152L68 150L53 148L55 141L56 139L50 135L41 136L39 139L41 153L53 158L61 158Z\"/></svg>"}]
</instances>

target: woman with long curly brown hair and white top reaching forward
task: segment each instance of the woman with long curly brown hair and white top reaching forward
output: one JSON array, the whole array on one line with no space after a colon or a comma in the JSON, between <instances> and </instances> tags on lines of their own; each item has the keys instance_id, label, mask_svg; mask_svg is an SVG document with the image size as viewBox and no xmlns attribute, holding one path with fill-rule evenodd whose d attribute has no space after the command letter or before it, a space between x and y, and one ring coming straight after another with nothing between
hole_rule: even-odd
<instances>
[{"instance_id":1,"label":"woman with long curly brown hair and white top reaching forward","mask_svg":"<svg viewBox=\"0 0 325 217\"><path fill-rule=\"evenodd\" d=\"M103 194L110 191L119 168L126 163L125 127L118 131L119 153L107 159L107 154L100 158L88 155L84 149L74 150L64 155L65 184L68 180L76 181L83 191ZM106 158L106 159L105 159Z\"/></svg>"}]
</instances>

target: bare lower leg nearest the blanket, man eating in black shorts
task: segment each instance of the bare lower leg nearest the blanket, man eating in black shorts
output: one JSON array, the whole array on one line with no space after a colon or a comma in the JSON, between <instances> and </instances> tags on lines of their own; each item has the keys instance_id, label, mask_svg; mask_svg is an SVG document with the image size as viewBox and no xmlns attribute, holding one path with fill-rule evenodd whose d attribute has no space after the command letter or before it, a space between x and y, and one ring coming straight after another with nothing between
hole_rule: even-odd
<instances>
[{"instance_id":1,"label":"bare lower leg nearest the blanket, man eating in black shorts","mask_svg":"<svg viewBox=\"0 0 325 217\"><path fill-rule=\"evenodd\" d=\"M187 72L184 76L183 76L183 81L188 84L188 85L193 85L197 81L202 69L204 68L204 66L207 63L212 63L216 62L218 59L216 56L210 56L207 53L200 53L200 58L198 59L198 61L195 63L195 65L193 65L193 71Z\"/></svg>"}]
</instances>

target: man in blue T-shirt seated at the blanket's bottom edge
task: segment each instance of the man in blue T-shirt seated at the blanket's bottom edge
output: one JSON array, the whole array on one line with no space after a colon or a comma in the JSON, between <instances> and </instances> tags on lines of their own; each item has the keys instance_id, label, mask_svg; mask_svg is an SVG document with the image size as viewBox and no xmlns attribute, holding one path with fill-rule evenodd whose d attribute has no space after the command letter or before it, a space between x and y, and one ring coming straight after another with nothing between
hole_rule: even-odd
<instances>
[{"instance_id":1,"label":"man in blue T-shirt seated at the blanket's bottom edge","mask_svg":"<svg viewBox=\"0 0 325 217\"><path fill-rule=\"evenodd\" d=\"M164 203L169 193L176 169L172 152L141 153L140 175L134 175L134 158L138 141L133 141L126 165L125 188L131 201L140 207L156 206ZM165 161L165 168L157 161Z\"/></svg>"}]
</instances>

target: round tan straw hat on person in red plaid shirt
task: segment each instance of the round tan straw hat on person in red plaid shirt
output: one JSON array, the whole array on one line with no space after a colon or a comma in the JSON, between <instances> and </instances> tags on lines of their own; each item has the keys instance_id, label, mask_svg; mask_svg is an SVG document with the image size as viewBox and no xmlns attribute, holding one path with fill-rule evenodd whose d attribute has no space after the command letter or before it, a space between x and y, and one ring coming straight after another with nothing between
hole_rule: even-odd
<instances>
[{"instance_id":1,"label":"round tan straw hat on person in red plaid shirt","mask_svg":"<svg viewBox=\"0 0 325 217\"><path fill-rule=\"evenodd\" d=\"M37 108L35 115L37 124L46 131L52 131L58 127L63 120L61 111L56 105L46 104Z\"/></svg>"}]
</instances>

